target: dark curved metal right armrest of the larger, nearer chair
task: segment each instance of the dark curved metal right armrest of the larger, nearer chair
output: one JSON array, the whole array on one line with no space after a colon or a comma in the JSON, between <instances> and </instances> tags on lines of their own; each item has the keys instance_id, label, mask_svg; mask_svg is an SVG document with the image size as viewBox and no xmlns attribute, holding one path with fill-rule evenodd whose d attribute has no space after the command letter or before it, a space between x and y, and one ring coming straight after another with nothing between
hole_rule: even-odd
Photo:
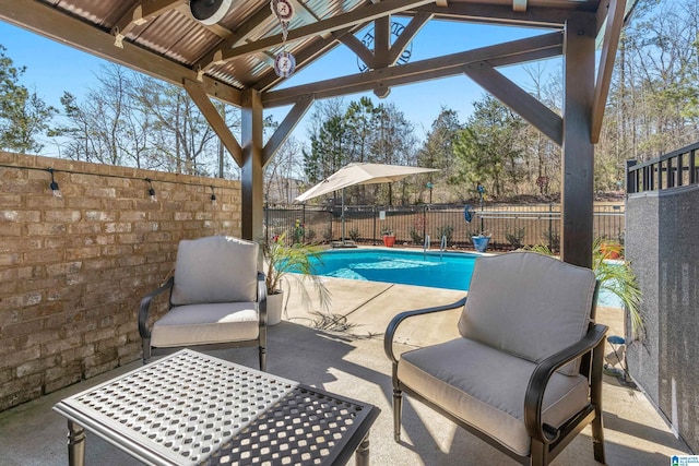
<instances>
[{"instance_id":1,"label":"dark curved metal right armrest of the larger, nearer chair","mask_svg":"<svg viewBox=\"0 0 699 466\"><path fill-rule=\"evenodd\" d=\"M549 356L536 366L536 369L534 369L530 378L524 396L524 426L532 439L545 444L553 443L558 439L559 432L557 429L545 426L542 421L542 405L548 380L556 370L566 366L568 362L578 359L587 353L600 350L600 346L604 344L604 335L607 330L608 327L606 325L595 324L588 331L582 339ZM593 368L593 370L594 369L601 370L601 368Z\"/></svg>"}]
</instances>

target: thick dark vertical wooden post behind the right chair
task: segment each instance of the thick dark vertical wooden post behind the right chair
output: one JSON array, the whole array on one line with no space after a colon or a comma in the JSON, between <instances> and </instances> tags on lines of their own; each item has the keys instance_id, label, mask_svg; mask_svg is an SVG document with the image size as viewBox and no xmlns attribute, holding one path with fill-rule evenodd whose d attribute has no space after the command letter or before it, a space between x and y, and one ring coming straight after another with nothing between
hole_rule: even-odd
<instances>
[{"instance_id":1,"label":"thick dark vertical wooden post behind the right chair","mask_svg":"<svg viewBox=\"0 0 699 466\"><path fill-rule=\"evenodd\" d=\"M591 142L596 36L594 14L566 24L560 255L592 265L594 145Z\"/></svg>"}]
</instances>

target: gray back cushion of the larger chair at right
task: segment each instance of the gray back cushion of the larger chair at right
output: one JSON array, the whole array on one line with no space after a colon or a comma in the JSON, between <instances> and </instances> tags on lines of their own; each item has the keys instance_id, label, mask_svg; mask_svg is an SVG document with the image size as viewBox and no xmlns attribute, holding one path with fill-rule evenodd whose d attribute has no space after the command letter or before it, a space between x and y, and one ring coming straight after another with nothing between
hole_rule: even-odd
<instances>
[{"instance_id":1,"label":"gray back cushion of the larger chair at right","mask_svg":"<svg viewBox=\"0 0 699 466\"><path fill-rule=\"evenodd\" d=\"M587 333L594 287L591 270L534 252L479 258L459 332L540 362Z\"/></svg>"}]
</instances>

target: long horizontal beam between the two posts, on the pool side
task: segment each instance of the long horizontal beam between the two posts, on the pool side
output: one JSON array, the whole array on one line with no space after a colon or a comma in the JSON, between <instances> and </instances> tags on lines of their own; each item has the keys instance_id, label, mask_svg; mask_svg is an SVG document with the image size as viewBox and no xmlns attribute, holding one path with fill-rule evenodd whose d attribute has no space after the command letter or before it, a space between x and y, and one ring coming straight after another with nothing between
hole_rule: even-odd
<instances>
[{"instance_id":1,"label":"long horizontal beam between the two posts, on the pool side","mask_svg":"<svg viewBox=\"0 0 699 466\"><path fill-rule=\"evenodd\" d=\"M375 89L379 86L392 86L419 81L450 76L463 72L462 67L481 61L496 61L498 65L513 64L530 57L532 52L542 55L559 53L562 36L560 33L544 34L510 43L498 44L474 50L452 53L443 57L371 70L365 73L332 80L319 81L285 89L265 93L264 107L292 105L300 95L315 95L316 99L346 95L362 91Z\"/></svg>"}]
</instances>

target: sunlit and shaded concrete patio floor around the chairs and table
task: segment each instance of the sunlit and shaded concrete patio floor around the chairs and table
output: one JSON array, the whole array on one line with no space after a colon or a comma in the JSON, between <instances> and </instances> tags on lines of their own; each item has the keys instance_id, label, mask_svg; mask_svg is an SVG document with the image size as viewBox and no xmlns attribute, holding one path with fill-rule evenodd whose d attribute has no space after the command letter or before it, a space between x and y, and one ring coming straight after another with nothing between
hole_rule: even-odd
<instances>
[{"instance_id":1,"label":"sunlit and shaded concrete patio floor around the chairs and table","mask_svg":"<svg viewBox=\"0 0 699 466\"><path fill-rule=\"evenodd\" d=\"M392 434L391 366L383 354L388 322L398 312L453 302L462 291L329 278L332 313L343 316L344 331L313 327L309 312L293 294L284 321L269 330L268 371L345 396L372 403L381 415L371 429L374 465L508 465L508 456L458 429L417 402L406 398L402 442ZM299 285L293 285L299 286ZM310 309L318 309L311 302ZM600 308L597 321L623 334L621 310ZM457 336L458 311L418 318L399 333L402 349ZM401 349L401 348L399 348ZM611 348L609 348L611 351ZM215 351L214 356L257 367L257 349ZM140 367L134 361L88 381L0 413L0 465L67 464L66 421L51 410L61 398ZM604 423L607 464L668 465L674 454L690 454L671 432L642 392L604 378ZM88 434L87 465L132 465L135 461ZM555 465L594 465L589 428L556 458Z\"/></svg>"}]
</instances>

